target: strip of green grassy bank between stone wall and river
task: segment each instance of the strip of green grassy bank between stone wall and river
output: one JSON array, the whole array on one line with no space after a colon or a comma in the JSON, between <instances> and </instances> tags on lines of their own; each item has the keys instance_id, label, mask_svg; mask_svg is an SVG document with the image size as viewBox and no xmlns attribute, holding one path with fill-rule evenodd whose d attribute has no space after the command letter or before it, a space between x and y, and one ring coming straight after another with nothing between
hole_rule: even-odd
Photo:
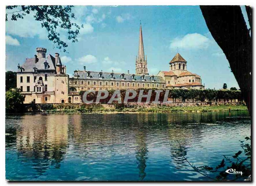
<instances>
[{"instance_id":1,"label":"strip of green grassy bank between stone wall and river","mask_svg":"<svg viewBox=\"0 0 256 186\"><path fill-rule=\"evenodd\" d=\"M247 107L244 105L238 106L185 106L185 107L173 107L166 105L156 105L147 107L145 105L132 105L132 106L108 106L104 107L102 105L83 105L77 108L54 108L54 109L46 109L42 112L46 113L116 113L116 112L158 112L158 113L170 113L170 112L220 112L220 111L240 111L247 110Z\"/></svg>"}]
</instances>

